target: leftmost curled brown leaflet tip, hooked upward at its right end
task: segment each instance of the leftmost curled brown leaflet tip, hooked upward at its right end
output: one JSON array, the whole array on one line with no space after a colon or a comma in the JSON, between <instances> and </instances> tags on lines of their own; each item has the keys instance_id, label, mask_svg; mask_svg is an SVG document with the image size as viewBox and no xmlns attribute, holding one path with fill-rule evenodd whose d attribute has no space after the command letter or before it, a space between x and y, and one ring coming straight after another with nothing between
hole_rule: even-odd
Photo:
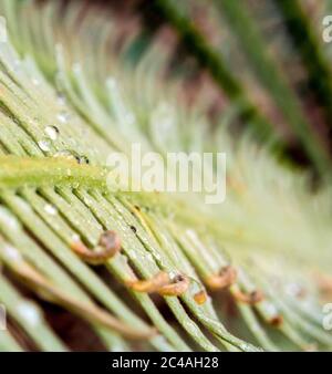
<instances>
[{"instance_id":1,"label":"leftmost curled brown leaflet tip, hooked upward at its right end","mask_svg":"<svg viewBox=\"0 0 332 374\"><path fill-rule=\"evenodd\" d=\"M90 264L102 264L121 250L121 239L115 231L107 230L101 235L94 251L87 249L82 241L73 242L71 249L83 261Z\"/></svg>"}]
</instances>

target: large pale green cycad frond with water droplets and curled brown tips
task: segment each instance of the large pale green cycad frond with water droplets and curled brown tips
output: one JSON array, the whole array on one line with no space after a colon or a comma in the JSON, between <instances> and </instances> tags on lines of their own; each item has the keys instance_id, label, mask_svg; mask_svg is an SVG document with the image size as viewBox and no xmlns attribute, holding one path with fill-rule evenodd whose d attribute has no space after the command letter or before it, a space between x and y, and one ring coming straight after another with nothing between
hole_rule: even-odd
<instances>
[{"instance_id":1,"label":"large pale green cycad frond with water droplets and curled brown tips","mask_svg":"<svg viewBox=\"0 0 332 374\"><path fill-rule=\"evenodd\" d=\"M112 19L79 22L76 2L56 4L1 2L0 302L12 325L0 349L72 349L48 320L54 303L111 351L330 350L330 190L314 195L249 135L235 141L226 115L211 128L203 104L179 105L158 45L133 69L112 50ZM108 155L135 142L163 156L226 152L226 201L110 191ZM93 251L108 230L122 250L95 270L74 248Z\"/></svg>"}]
</instances>

